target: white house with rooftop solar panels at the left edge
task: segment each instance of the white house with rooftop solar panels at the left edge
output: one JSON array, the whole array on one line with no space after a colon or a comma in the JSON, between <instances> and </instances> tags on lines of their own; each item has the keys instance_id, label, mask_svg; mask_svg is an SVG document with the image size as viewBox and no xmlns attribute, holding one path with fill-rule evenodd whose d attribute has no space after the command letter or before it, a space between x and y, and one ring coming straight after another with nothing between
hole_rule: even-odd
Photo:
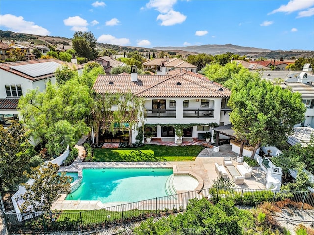
<instances>
[{"instance_id":1,"label":"white house with rooftop solar panels at the left edge","mask_svg":"<svg viewBox=\"0 0 314 235\"><path fill-rule=\"evenodd\" d=\"M12 120L19 120L17 104L19 98L28 90L44 91L47 82L56 82L55 70L62 64L70 68L75 66L79 73L82 65L72 64L57 59L40 59L19 62L0 63L0 119L1 124L10 125Z\"/></svg>"}]
</instances>

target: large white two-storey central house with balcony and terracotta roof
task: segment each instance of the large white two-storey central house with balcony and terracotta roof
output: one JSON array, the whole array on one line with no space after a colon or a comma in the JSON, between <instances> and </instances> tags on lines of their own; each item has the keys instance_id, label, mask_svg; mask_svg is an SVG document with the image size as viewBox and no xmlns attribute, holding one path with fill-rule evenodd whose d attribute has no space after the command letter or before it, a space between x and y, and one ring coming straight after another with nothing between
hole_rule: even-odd
<instances>
[{"instance_id":1,"label":"large white two-storey central house with balcony and terracotta roof","mask_svg":"<svg viewBox=\"0 0 314 235\"><path fill-rule=\"evenodd\" d=\"M99 94L131 90L136 96L143 97L145 123L150 124L145 131L153 132L153 137L176 141L173 125L191 124L183 129L183 140L185 137L204 139L202 134L212 131L210 123L230 123L231 109L227 106L231 94L229 89L190 71L138 75L134 67L131 75L99 75L93 89ZM134 131L133 143L136 135Z\"/></svg>"}]
</instances>

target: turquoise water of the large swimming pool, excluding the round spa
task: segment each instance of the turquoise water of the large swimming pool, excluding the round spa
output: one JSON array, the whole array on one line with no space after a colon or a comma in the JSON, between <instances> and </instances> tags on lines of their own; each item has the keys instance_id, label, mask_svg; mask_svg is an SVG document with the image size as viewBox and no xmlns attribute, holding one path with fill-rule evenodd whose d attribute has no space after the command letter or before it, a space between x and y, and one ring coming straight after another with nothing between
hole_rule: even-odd
<instances>
[{"instance_id":1,"label":"turquoise water of the large swimming pool, excluding the round spa","mask_svg":"<svg viewBox=\"0 0 314 235\"><path fill-rule=\"evenodd\" d=\"M136 202L167 196L165 185L172 169L84 169L77 190L65 200Z\"/></svg>"}]
</instances>

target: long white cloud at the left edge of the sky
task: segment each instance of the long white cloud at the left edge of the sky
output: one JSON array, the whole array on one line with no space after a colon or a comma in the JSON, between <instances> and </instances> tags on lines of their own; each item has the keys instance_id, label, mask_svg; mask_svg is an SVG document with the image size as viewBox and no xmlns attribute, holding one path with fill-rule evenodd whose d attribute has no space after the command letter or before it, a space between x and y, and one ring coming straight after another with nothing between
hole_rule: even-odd
<instances>
[{"instance_id":1,"label":"long white cloud at the left edge of the sky","mask_svg":"<svg viewBox=\"0 0 314 235\"><path fill-rule=\"evenodd\" d=\"M19 33L29 33L35 35L50 34L46 28L35 25L32 21L26 21L22 16L14 16L11 14L0 15L0 25L7 27L10 31Z\"/></svg>"}]
</instances>

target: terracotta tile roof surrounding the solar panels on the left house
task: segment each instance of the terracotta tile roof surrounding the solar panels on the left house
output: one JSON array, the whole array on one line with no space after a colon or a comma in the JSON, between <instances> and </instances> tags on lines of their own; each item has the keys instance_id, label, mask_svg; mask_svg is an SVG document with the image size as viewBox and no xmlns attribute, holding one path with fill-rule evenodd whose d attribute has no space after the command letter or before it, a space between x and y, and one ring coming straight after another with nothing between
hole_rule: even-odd
<instances>
[{"instance_id":1,"label":"terracotta tile roof surrounding the solar panels on the left house","mask_svg":"<svg viewBox=\"0 0 314 235\"><path fill-rule=\"evenodd\" d=\"M36 63L45 63L45 62L56 62L56 63L59 63L60 65L67 64L69 66L69 68L72 68L73 66L75 66L76 70L84 68L84 66L82 66L80 64L69 63L69 62L65 62L62 60L58 60L58 59L36 59L36 60L0 63L0 69L3 69L9 73L18 75L20 77L23 77L23 78L26 78L26 79L29 79L32 81L38 81L38 80L45 79L45 78L51 78L54 76L54 73L45 74L45 75L38 76L38 77L32 77L32 76L29 76L29 75L24 74L22 72L19 72L17 70L11 69L10 67L16 66L16 65L36 64Z\"/></svg>"}]
</instances>

